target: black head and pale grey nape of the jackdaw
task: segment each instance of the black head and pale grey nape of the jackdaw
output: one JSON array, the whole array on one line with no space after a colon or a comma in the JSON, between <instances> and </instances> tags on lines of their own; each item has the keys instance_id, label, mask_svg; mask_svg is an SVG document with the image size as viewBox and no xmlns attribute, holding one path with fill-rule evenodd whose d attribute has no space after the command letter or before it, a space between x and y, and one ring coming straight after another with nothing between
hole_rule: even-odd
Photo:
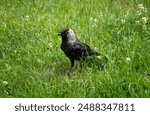
<instances>
[{"instance_id":1,"label":"black head and pale grey nape of the jackdaw","mask_svg":"<svg viewBox=\"0 0 150 115\"><path fill-rule=\"evenodd\" d=\"M75 39L75 34L72 29L63 29L59 32L59 34L63 40Z\"/></svg>"}]
</instances>

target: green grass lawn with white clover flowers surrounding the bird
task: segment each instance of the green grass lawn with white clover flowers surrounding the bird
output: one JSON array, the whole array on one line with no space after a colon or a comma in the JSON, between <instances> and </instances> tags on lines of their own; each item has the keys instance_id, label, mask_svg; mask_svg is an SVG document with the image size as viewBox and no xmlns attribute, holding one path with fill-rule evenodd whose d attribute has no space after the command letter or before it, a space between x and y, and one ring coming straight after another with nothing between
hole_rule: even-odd
<instances>
[{"instance_id":1,"label":"green grass lawn with white clover flowers surrounding the bird","mask_svg":"<svg viewBox=\"0 0 150 115\"><path fill-rule=\"evenodd\" d=\"M91 57L67 74L65 27L103 68ZM150 97L150 1L1 0L0 97Z\"/></svg>"}]
</instances>

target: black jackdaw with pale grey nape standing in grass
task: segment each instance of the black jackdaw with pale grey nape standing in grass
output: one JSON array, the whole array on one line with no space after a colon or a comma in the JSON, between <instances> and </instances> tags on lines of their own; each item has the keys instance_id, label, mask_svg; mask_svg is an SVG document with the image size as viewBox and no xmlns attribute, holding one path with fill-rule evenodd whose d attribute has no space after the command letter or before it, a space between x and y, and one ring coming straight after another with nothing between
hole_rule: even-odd
<instances>
[{"instance_id":1,"label":"black jackdaw with pale grey nape standing in grass","mask_svg":"<svg viewBox=\"0 0 150 115\"><path fill-rule=\"evenodd\" d=\"M60 48L65 53L65 55L71 61L71 68L74 66L74 60L80 61L80 67L82 67L81 61L85 61L88 56L100 54L90 48L90 46L85 43L80 42L76 39L73 30L64 29L58 34L62 37L62 43Z\"/></svg>"}]
</instances>

